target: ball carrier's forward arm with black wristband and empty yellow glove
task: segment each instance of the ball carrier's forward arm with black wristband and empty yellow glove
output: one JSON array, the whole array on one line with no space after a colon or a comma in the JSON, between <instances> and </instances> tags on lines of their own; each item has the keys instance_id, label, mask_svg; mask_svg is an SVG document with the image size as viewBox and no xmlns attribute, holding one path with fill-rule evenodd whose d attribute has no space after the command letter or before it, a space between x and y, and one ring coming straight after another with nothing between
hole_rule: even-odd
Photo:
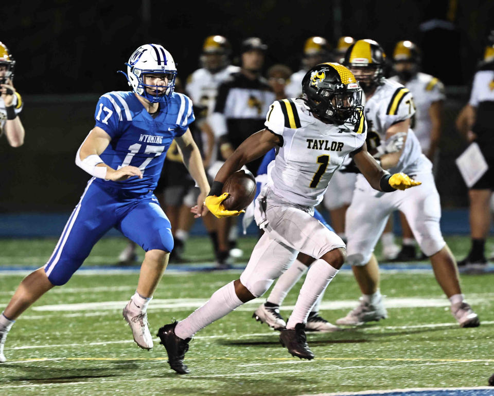
<instances>
[{"instance_id":1,"label":"ball carrier's forward arm with black wristband and empty yellow glove","mask_svg":"<svg viewBox=\"0 0 494 396\"><path fill-rule=\"evenodd\" d=\"M390 175L389 172L384 171L379 162L367 152L365 143L362 150L355 154L354 161L362 175L375 190L390 193L395 190L406 190L421 184L421 182L411 179L404 173Z\"/></svg>"}]
</instances>

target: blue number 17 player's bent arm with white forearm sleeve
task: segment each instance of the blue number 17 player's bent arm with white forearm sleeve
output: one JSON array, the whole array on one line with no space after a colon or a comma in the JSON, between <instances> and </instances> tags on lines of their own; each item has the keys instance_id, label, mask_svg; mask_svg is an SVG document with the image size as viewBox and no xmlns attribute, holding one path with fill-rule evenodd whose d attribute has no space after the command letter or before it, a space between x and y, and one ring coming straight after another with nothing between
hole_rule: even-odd
<instances>
[{"instance_id":1,"label":"blue number 17 player's bent arm with white forearm sleeve","mask_svg":"<svg viewBox=\"0 0 494 396\"><path fill-rule=\"evenodd\" d=\"M143 178L143 173L135 166L113 169L103 162L99 155L104 152L112 138L103 129L95 126L77 150L76 165L91 176L101 179L122 181L133 176Z\"/></svg>"}]
</instances>

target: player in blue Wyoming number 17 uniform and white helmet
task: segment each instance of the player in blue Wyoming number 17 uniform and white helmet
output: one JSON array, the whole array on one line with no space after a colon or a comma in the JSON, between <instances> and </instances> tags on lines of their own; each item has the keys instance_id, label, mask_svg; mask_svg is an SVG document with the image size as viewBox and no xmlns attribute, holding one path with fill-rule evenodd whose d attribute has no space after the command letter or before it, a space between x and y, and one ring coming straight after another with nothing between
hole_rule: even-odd
<instances>
[{"instance_id":1,"label":"player in blue Wyoming number 17 uniform and white helmet","mask_svg":"<svg viewBox=\"0 0 494 396\"><path fill-rule=\"evenodd\" d=\"M197 217L207 213L209 191L202 158L188 125L191 100L173 91L177 68L161 45L146 44L129 59L126 75L132 91L113 91L96 105L96 125L76 154L76 164L93 177L46 265L28 275L0 315L0 362L14 320L54 286L64 285L94 244L111 228L141 246L146 254L137 290L123 309L134 341L151 349L147 306L173 249L170 222L153 194L173 139L189 173L200 187Z\"/></svg>"}]
</instances>

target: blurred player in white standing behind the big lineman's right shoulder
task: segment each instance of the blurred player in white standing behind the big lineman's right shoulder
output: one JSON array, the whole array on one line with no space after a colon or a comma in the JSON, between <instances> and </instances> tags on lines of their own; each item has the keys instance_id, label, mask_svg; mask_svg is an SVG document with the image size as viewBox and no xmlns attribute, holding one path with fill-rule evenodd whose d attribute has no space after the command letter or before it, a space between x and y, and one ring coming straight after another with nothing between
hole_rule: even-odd
<instances>
[{"instance_id":1,"label":"blurred player in white standing behind the big lineman's right shoulder","mask_svg":"<svg viewBox=\"0 0 494 396\"><path fill-rule=\"evenodd\" d=\"M408 40L398 42L393 51L393 69L396 76L391 80L398 81L412 92L416 111L411 120L411 127L420 143L422 153L432 161L433 171L437 171L443 102L446 96L442 82L419 71L420 60L420 49L414 43ZM402 213L400 218L403 240L396 260L414 260L417 258L415 239Z\"/></svg>"}]
</instances>

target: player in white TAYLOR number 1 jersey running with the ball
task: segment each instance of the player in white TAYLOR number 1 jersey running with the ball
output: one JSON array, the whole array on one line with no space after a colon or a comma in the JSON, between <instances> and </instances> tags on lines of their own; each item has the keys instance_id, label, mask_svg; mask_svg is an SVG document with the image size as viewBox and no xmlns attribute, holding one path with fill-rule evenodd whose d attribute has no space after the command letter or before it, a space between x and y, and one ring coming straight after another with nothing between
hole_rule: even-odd
<instances>
[{"instance_id":1,"label":"player in white TAYLOR number 1 jersey running with the ball","mask_svg":"<svg viewBox=\"0 0 494 396\"><path fill-rule=\"evenodd\" d=\"M245 163L273 147L278 154L269 165L270 180L256 201L256 223L264 234L254 248L240 279L230 282L202 307L180 322L158 331L170 367L188 373L184 355L191 337L237 307L261 296L295 260L298 252L315 259L300 291L281 344L303 359L313 359L305 336L309 312L345 261L345 243L313 216L331 176L351 155L369 183L380 192L420 184L405 174L390 175L367 153L362 90L355 77L338 63L310 69L302 82L304 99L274 102L265 129L251 135L235 150L216 175L205 204L217 217L235 216L225 210L223 183Z\"/></svg>"}]
</instances>

